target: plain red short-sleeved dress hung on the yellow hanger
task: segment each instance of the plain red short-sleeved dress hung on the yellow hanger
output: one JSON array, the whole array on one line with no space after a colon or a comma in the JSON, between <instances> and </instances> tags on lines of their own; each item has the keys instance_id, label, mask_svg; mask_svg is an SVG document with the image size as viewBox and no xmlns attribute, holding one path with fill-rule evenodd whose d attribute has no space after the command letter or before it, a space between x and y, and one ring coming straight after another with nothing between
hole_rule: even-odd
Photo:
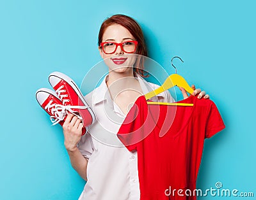
<instances>
[{"instance_id":1,"label":"plain red short-sleeved dress hung on the yellow hanger","mask_svg":"<svg viewBox=\"0 0 256 200\"><path fill-rule=\"evenodd\" d=\"M210 99L189 96L179 103L194 105L147 104L140 96L118 131L127 149L138 152L141 200L195 200L204 139L225 128Z\"/></svg>"}]
</instances>

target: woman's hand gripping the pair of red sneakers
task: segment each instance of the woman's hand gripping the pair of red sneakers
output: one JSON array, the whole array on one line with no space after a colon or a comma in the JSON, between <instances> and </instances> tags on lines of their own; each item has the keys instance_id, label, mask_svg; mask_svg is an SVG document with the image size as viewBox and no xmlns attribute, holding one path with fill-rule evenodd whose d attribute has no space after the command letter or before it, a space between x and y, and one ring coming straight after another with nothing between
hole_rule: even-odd
<instances>
[{"instance_id":1,"label":"woman's hand gripping the pair of red sneakers","mask_svg":"<svg viewBox=\"0 0 256 200\"><path fill-rule=\"evenodd\" d=\"M74 151L77 148L77 143L82 136L83 123L82 120L73 114L68 114L63 124L64 145L67 151Z\"/></svg>"}]
</instances>

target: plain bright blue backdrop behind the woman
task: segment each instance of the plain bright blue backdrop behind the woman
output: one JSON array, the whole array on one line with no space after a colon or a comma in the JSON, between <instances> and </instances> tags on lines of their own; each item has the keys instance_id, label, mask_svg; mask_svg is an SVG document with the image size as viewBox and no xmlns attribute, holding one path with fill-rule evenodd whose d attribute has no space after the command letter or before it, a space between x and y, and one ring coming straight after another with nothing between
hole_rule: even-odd
<instances>
[{"instance_id":1,"label":"plain bright blue backdrop behind the woman","mask_svg":"<svg viewBox=\"0 0 256 200\"><path fill-rule=\"evenodd\" d=\"M170 73L170 58L182 57L178 73L207 91L221 112L227 127L205 141L197 187L221 182L256 196L254 2L0 1L0 199L81 194L85 182L70 166L61 127L51 127L35 91L50 88L52 71L79 85L101 61L100 24L116 13L138 20L149 56Z\"/></svg>"}]
</instances>

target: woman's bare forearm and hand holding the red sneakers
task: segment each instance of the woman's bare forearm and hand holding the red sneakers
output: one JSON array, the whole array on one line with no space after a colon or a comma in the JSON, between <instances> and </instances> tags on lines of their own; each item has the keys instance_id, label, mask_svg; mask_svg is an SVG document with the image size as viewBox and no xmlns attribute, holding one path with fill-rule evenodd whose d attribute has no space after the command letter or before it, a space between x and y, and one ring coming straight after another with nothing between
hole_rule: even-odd
<instances>
[{"instance_id":1,"label":"woman's bare forearm and hand holding the red sneakers","mask_svg":"<svg viewBox=\"0 0 256 200\"><path fill-rule=\"evenodd\" d=\"M64 145L67 149L72 167L84 180L87 181L86 171L88 160L83 157L77 148L77 143L80 141L82 136L82 128L82 121L76 116L68 114L63 124L63 134L65 138Z\"/></svg>"}]
</instances>

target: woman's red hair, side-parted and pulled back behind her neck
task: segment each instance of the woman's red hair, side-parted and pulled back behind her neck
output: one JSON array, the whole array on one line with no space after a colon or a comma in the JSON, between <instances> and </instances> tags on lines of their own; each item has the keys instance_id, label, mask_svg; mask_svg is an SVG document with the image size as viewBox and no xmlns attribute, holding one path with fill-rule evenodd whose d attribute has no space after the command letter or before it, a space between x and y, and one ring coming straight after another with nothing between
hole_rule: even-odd
<instances>
[{"instance_id":1,"label":"woman's red hair, side-parted and pulled back behind her neck","mask_svg":"<svg viewBox=\"0 0 256 200\"><path fill-rule=\"evenodd\" d=\"M99 48L101 48L100 43L102 43L102 36L104 32L109 27L109 25L113 25L113 24L119 24L125 27L129 32L131 32L134 39L138 41L136 54L143 55L143 56L148 55L147 47L144 41L144 36L143 36L143 32L141 30L140 25L138 24L138 22L136 22L136 20L134 20L131 17L128 17L127 15L113 15L112 17L109 17L106 20L104 20L104 22L100 26L100 31L99 31L99 37L98 37ZM136 61L134 71L139 73L141 76L144 76L145 72L143 71L143 61L141 61L141 57L139 57L138 61Z\"/></svg>"}]
</instances>

